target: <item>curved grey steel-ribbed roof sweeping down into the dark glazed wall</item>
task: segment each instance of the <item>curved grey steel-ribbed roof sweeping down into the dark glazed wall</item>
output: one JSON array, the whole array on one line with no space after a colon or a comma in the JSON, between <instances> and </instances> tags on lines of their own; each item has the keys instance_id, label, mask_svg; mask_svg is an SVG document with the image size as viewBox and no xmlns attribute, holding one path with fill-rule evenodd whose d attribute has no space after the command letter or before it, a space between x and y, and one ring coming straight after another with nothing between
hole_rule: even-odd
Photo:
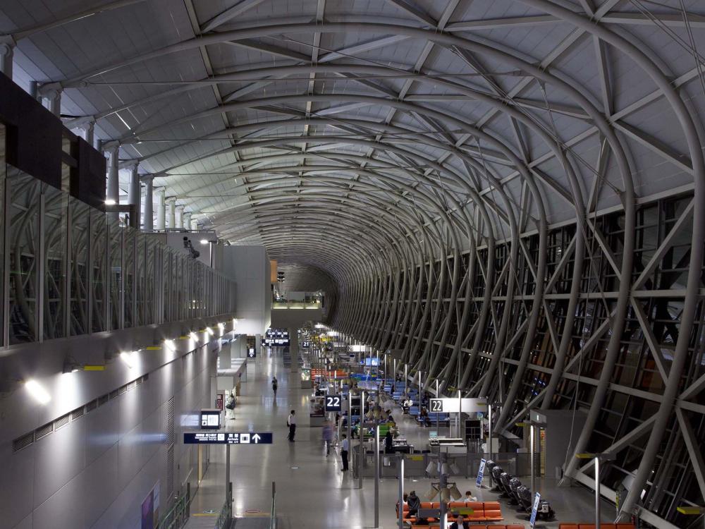
<instances>
[{"instance_id":1,"label":"curved grey steel-ribbed roof sweeping down into the dark glazed wall","mask_svg":"<svg viewBox=\"0 0 705 529\"><path fill-rule=\"evenodd\" d=\"M333 327L508 403L506 434L584 408L576 451L618 453L623 516L702 504L697 1L123 0L35 25L6 4L5 70L52 61L39 95L115 186L137 163L200 226L332 278ZM118 47L116 13L161 30ZM62 32L104 56L64 60Z\"/></svg>"}]
</instances>

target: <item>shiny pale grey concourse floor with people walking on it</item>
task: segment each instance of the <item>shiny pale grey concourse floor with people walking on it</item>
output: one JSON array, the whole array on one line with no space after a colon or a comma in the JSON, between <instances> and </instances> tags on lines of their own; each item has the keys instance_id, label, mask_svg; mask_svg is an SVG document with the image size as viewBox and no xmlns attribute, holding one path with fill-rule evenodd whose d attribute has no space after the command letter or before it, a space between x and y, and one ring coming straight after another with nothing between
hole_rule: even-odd
<instances>
[{"instance_id":1,"label":"shiny pale grey concourse floor with people walking on it","mask_svg":"<svg viewBox=\"0 0 705 529\"><path fill-rule=\"evenodd\" d=\"M276 401L269 381L279 382ZM242 521L237 527L260 526L271 511L272 482L276 482L276 513L278 529L332 529L374 527L374 482L364 480L357 489L357 480L341 472L341 460L331 451L326 457L321 428L309 427L308 399L310 389L300 388L300 373L284 366L278 351L267 351L247 367L247 382L238 399L235 420L227 420L227 428L238 432L274 432L274 444L233 446L231 449L231 480L233 482L233 512ZM286 436L286 418L291 409L298 415L296 441ZM417 427L412 420L394 413L400 429L412 444L422 446L428 430ZM441 432L443 434L444 432ZM211 462L192 503L192 518L188 527L212 527L215 515L224 501L224 448L212 446ZM556 487L553 480L539 481L542 496L550 499L556 510L556 521L541 523L547 528L558 527L559 521L589 522L594 519L594 496L582 487ZM474 479L460 480L460 490L474 487ZM429 480L405 480L405 490L425 491ZM480 500L495 500L496 494L478 490ZM398 497L398 480L385 479L380 485L380 527L396 527L394 505ZM504 523L529 524L513 508L502 504ZM603 521L613 521L614 506L603 503ZM200 515L200 516L198 516ZM210 525L208 525L210 523ZM251 524L251 525L250 525ZM262 525L264 526L264 525ZM537 523L537 526L539 524Z\"/></svg>"}]
</instances>

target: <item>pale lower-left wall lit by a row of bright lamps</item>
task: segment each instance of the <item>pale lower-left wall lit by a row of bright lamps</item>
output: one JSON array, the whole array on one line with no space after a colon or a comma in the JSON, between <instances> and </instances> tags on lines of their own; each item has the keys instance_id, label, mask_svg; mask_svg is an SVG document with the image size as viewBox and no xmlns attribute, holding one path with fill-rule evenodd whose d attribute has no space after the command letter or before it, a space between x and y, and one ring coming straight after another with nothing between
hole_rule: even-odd
<instances>
[{"instance_id":1,"label":"pale lower-left wall lit by a row of bright lamps","mask_svg":"<svg viewBox=\"0 0 705 529\"><path fill-rule=\"evenodd\" d=\"M213 405L210 386L216 358L212 346L202 346L24 449L13 453L12 442L2 442L0 528L139 528L142 501L157 482L160 511L166 512L171 488L166 432L172 397L173 490L178 492L190 475L195 492L197 448L182 444L182 432L197 425L201 408ZM71 384L75 375L89 373L61 377ZM37 406L29 396L24 400L27 406ZM0 406L4 418L21 411Z\"/></svg>"}]
</instances>

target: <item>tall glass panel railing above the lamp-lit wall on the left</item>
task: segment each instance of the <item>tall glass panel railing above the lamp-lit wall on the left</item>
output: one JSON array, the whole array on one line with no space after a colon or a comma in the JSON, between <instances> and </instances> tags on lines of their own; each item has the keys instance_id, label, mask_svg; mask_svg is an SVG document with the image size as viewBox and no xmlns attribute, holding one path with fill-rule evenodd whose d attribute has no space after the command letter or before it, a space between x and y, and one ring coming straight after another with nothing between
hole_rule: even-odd
<instances>
[{"instance_id":1,"label":"tall glass panel railing above the lamp-lit wall on the left","mask_svg":"<svg viewBox=\"0 0 705 529\"><path fill-rule=\"evenodd\" d=\"M0 157L0 346L235 312L235 281Z\"/></svg>"}]
</instances>

